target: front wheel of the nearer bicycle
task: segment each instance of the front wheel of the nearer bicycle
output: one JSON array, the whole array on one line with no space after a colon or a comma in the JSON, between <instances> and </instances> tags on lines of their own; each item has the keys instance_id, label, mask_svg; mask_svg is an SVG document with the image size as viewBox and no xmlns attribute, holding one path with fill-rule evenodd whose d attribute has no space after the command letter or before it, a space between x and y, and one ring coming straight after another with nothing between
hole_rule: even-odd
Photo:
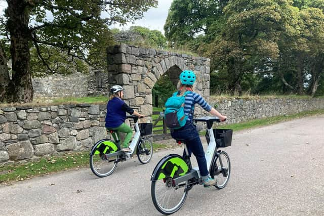
<instances>
[{"instance_id":1,"label":"front wheel of the nearer bicycle","mask_svg":"<svg viewBox=\"0 0 324 216\"><path fill-rule=\"evenodd\" d=\"M220 158L223 164L223 167L220 163ZM231 162L229 156L226 152L222 151L217 157L214 158L211 177L217 180L215 187L217 189L225 188L228 183L229 177L231 174Z\"/></svg>"}]
</instances>

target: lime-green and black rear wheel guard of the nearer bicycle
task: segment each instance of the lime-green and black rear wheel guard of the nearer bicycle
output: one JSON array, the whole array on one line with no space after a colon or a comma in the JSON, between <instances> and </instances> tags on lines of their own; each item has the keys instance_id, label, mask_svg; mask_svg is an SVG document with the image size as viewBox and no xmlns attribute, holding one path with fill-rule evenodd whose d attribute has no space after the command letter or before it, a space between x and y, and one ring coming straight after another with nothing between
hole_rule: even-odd
<instances>
[{"instance_id":1,"label":"lime-green and black rear wheel guard of the nearer bicycle","mask_svg":"<svg viewBox=\"0 0 324 216\"><path fill-rule=\"evenodd\" d=\"M188 164L182 156L178 154L170 154L157 163L153 170L151 181L184 176L188 170Z\"/></svg>"}]
</instances>

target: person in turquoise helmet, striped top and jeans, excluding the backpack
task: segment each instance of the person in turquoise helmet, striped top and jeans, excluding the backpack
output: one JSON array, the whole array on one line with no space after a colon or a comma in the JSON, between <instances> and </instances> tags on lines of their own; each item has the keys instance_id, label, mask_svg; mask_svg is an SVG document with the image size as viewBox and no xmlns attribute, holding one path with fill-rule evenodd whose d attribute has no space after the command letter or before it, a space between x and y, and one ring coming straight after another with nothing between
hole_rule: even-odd
<instances>
[{"instance_id":1,"label":"person in turquoise helmet, striped top and jeans, excluding the backpack","mask_svg":"<svg viewBox=\"0 0 324 216\"><path fill-rule=\"evenodd\" d=\"M196 126L192 122L194 105L199 104L203 109L205 109L210 114L217 116L221 121L226 120L227 117L220 114L216 109L211 107L203 97L194 92L193 84L196 80L196 75L193 71L184 70L180 74L179 78L180 80L177 86L178 95L183 95L186 91L190 91L185 98L184 107L185 115L187 115L188 118L186 124L183 127L179 129L173 129L171 131L171 136L174 139L184 139L186 141L189 155L193 153L197 159L200 175L204 182L204 187L214 186L217 184L217 182L216 180L209 177L203 144L201 144Z\"/></svg>"}]
</instances>

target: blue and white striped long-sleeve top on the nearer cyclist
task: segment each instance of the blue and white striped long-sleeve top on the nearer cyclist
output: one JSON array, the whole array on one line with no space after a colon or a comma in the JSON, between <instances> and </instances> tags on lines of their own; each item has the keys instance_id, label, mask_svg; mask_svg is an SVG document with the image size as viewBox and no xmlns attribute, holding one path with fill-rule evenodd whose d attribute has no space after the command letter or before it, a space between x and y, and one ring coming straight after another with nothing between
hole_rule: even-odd
<instances>
[{"instance_id":1,"label":"blue and white striped long-sleeve top on the nearer cyclist","mask_svg":"<svg viewBox=\"0 0 324 216\"><path fill-rule=\"evenodd\" d=\"M205 101L203 97L195 92L190 92L187 94L184 103L184 114L188 116L188 120L192 120L195 104L199 104L207 112L212 110L212 107Z\"/></svg>"}]
</instances>

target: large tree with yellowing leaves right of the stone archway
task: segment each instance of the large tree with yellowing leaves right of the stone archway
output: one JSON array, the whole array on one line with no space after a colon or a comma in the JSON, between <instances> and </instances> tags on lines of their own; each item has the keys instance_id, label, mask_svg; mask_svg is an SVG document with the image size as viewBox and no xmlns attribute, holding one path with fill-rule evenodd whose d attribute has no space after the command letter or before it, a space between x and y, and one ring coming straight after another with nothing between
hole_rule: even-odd
<instances>
[{"instance_id":1,"label":"large tree with yellowing leaves right of the stone archway","mask_svg":"<svg viewBox=\"0 0 324 216\"><path fill-rule=\"evenodd\" d=\"M226 24L219 36L207 45L213 68L227 77L228 90L242 93L247 73L279 56L279 32L285 26L287 1L229 1L224 8Z\"/></svg>"}]
</instances>

